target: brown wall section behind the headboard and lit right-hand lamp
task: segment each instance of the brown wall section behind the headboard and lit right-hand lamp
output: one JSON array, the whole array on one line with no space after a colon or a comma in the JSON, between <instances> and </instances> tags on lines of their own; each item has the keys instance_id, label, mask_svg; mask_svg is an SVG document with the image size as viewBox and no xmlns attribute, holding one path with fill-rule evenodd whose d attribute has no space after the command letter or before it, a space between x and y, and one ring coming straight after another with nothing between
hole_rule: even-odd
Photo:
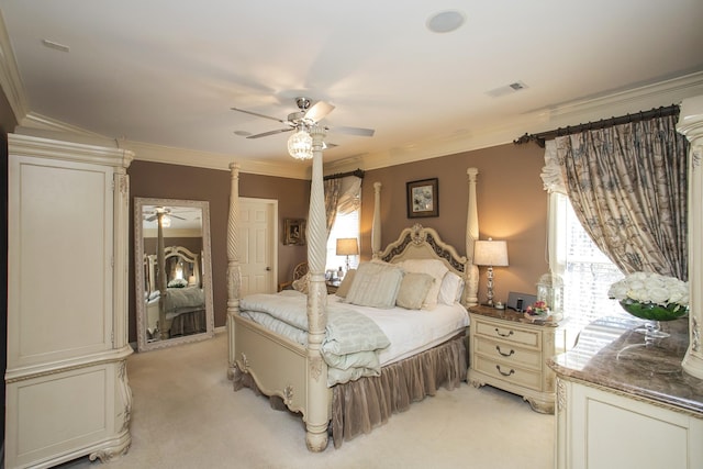
<instances>
[{"instance_id":1,"label":"brown wall section behind the headboard and lit right-hand lamp","mask_svg":"<svg viewBox=\"0 0 703 469\"><path fill-rule=\"evenodd\" d=\"M420 223L437 230L446 243L466 255L466 171L476 167L479 238L507 242L510 266L494 268L494 300L506 301L510 291L534 294L539 276L548 270L543 166L544 149L537 145L507 144L367 171L361 193L361 257L371 255L375 182L382 185L381 246L395 241L402 228ZM409 219L405 182L427 178L438 179L439 216ZM486 301L486 268L479 270L479 301Z\"/></svg>"}]
</instances>

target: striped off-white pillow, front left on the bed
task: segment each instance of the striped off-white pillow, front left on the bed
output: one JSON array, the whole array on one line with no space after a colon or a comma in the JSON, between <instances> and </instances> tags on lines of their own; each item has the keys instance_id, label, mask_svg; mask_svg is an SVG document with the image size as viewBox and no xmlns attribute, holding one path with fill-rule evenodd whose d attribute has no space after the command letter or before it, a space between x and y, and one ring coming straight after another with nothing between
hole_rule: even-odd
<instances>
[{"instance_id":1,"label":"striped off-white pillow, front left on the bed","mask_svg":"<svg viewBox=\"0 0 703 469\"><path fill-rule=\"evenodd\" d=\"M392 264L362 263L356 269L346 302L360 306L393 308L403 270Z\"/></svg>"}]
</instances>

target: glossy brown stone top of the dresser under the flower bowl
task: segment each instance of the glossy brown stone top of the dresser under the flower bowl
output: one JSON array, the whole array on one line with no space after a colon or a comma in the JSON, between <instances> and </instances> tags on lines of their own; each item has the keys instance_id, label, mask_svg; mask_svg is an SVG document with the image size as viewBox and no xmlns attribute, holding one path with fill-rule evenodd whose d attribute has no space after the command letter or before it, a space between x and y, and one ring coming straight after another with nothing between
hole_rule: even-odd
<instances>
[{"instance_id":1,"label":"glossy brown stone top of the dresser under the flower bowl","mask_svg":"<svg viewBox=\"0 0 703 469\"><path fill-rule=\"evenodd\" d=\"M589 324L571 350L547 362L560 378L573 378L650 399L703 417L703 380L681 360L689 346L689 319L662 322L669 337L645 340L643 321L604 317Z\"/></svg>"}]
</instances>

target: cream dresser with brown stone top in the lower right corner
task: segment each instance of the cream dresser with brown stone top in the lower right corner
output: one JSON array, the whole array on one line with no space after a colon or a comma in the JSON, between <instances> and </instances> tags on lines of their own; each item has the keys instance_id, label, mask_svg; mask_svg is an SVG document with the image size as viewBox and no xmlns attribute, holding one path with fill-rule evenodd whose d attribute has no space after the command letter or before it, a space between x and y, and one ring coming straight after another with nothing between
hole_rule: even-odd
<instances>
[{"instance_id":1,"label":"cream dresser with brown stone top in the lower right corner","mask_svg":"<svg viewBox=\"0 0 703 469\"><path fill-rule=\"evenodd\" d=\"M688 319L647 343L634 317L606 317L549 361L557 373L559 469L703 468L703 380L682 371Z\"/></svg>"}]
</instances>

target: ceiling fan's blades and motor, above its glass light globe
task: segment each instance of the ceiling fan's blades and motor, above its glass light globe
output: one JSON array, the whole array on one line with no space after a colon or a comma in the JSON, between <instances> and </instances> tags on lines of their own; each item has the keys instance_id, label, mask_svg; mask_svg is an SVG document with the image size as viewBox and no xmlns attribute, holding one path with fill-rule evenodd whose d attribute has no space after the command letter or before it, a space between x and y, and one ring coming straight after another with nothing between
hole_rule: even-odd
<instances>
[{"instance_id":1,"label":"ceiling fan's blades and motor, above its glass light globe","mask_svg":"<svg viewBox=\"0 0 703 469\"><path fill-rule=\"evenodd\" d=\"M330 114L334 110L334 105L325 101L317 101L315 104L311 105L312 101L310 100L310 98L305 98L305 97L295 98L295 104L298 105L298 111L288 114L288 118L284 120L272 118L266 114L259 114L258 112L247 111L245 109L239 109L239 108L232 108L232 110L244 112L245 114L256 115L257 118L269 119L271 121L277 121L277 122L280 122L281 124L287 125L287 127L284 129L278 129L275 131L264 132L256 135L248 135L247 138L260 138L260 137L267 137L269 135L280 134L283 132L305 130L319 123L320 121L322 121L327 114ZM324 126L324 127L325 130L336 132L336 133L344 133L349 135L359 135L359 136L367 136L367 137L373 136L373 133L376 132L372 129L361 129L361 127L346 127L346 126L339 126L339 127Z\"/></svg>"}]
</instances>

